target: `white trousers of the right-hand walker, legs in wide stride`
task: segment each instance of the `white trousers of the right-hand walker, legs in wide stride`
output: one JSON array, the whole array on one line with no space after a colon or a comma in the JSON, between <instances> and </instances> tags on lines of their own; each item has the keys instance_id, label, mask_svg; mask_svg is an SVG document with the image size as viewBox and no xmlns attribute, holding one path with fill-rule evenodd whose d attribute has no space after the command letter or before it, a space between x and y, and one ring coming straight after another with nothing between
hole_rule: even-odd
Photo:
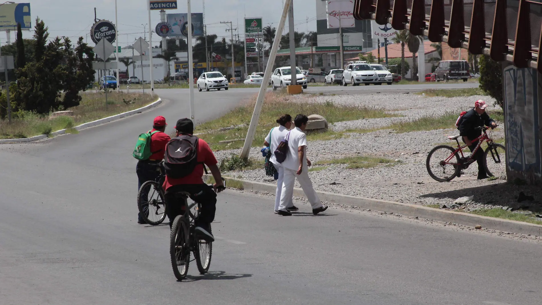
<instances>
[{"instance_id":1,"label":"white trousers of the right-hand walker, legs in wide stride","mask_svg":"<svg viewBox=\"0 0 542 305\"><path fill-rule=\"evenodd\" d=\"M315 209L321 207L322 202L312 187L311 178L308 176L308 170L305 169L301 172L301 175L298 176L295 170L284 168L284 178L282 180L282 192L280 194L279 209L282 211L287 211L286 207L288 207L288 199L292 200L292 196L294 194L295 178L298 179L308 201L311 202L312 208Z\"/></svg>"}]
</instances>

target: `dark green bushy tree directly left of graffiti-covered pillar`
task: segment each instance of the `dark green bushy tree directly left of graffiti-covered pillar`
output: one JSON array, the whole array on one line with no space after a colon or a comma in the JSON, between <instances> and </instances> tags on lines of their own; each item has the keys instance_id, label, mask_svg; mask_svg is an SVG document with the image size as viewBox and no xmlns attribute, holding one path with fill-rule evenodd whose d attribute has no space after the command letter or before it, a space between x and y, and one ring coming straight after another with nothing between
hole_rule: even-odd
<instances>
[{"instance_id":1,"label":"dark green bushy tree directly left of graffiti-covered pillar","mask_svg":"<svg viewBox=\"0 0 542 305\"><path fill-rule=\"evenodd\" d=\"M502 66L487 55L480 55L480 89L496 100L496 104L503 105L502 97Z\"/></svg>"}]
</instances>

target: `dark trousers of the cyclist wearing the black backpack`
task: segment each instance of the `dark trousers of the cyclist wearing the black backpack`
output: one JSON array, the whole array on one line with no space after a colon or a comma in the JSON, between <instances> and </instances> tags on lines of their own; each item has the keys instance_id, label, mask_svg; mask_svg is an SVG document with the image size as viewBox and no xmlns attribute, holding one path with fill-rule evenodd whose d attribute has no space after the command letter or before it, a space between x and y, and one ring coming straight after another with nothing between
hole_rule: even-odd
<instances>
[{"instance_id":1,"label":"dark trousers of the cyclist wearing the black backpack","mask_svg":"<svg viewBox=\"0 0 542 305\"><path fill-rule=\"evenodd\" d=\"M177 215L184 214L184 200L178 192L190 194L190 199L201 204L199 217L195 223L196 226L202 226L206 229L209 224L215 220L216 212L216 193L212 187L202 183L200 185L176 185L166 190L167 218L170 219L170 228Z\"/></svg>"}]
</instances>

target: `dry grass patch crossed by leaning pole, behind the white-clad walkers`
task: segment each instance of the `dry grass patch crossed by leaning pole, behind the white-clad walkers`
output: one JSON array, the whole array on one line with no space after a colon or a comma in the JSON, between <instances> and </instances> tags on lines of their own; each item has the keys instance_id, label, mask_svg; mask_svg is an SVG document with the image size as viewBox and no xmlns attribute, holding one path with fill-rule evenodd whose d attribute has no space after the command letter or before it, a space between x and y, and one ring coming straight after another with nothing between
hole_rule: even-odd
<instances>
[{"instance_id":1,"label":"dry grass patch crossed by leaning pole, behind the white-clad walkers","mask_svg":"<svg viewBox=\"0 0 542 305\"><path fill-rule=\"evenodd\" d=\"M254 97L253 100L256 98ZM254 111L254 101L247 105L237 107L226 115L203 123L196 128L199 137L207 141L214 150L241 148L243 141L231 143L219 143L220 141L232 139L244 139L247 134L250 118ZM263 139L270 129L275 127L276 119L281 115L289 113L295 117L298 113L306 115L318 114L324 116L328 123L342 122L346 120L357 120L363 118L391 117L384 112L384 109L357 105L335 105L331 101L315 103L314 96L288 96L285 92L268 92L260 115L259 124L256 127L254 146L263 144ZM235 126L235 128L218 131L221 128ZM332 139L343 137L344 132L327 131L321 134L313 133L307 136L308 139Z\"/></svg>"}]
</instances>

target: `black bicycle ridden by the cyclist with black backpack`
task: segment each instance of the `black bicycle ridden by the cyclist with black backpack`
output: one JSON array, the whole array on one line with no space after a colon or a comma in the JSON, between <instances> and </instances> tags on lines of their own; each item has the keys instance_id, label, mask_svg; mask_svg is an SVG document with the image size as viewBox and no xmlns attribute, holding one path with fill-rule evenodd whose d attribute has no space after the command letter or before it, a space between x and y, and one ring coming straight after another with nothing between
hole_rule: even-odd
<instances>
[{"instance_id":1,"label":"black bicycle ridden by the cyclist with black backpack","mask_svg":"<svg viewBox=\"0 0 542 305\"><path fill-rule=\"evenodd\" d=\"M224 186L221 189L225 188ZM196 237L194 221L199 217L201 204L193 202L188 205L189 193L179 192L184 200L184 214L177 215L171 226L170 235L170 256L173 274L180 281L188 274L188 265L190 264L190 252L194 253L196 265L200 274L205 274L209 271L211 265L212 243ZM211 232L211 224L209 224Z\"/></svg>"}]
</instances>

